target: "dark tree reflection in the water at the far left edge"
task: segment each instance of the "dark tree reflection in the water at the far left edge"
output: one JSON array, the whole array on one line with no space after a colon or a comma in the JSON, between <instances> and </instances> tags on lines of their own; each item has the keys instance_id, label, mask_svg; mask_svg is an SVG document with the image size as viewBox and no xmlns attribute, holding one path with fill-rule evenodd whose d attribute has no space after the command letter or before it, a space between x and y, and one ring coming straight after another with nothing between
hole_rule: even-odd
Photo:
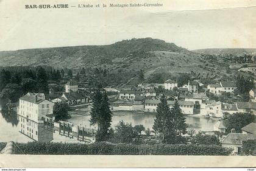
<instances>
[{"instance_id":1,"label":"dark tree reflection in the water at the far left edge","mask_svg":"<svg viewBox=\"0 0 256 171\"><path fill-rule=\"evenodd\" d=\"M2 117L5 119L6 122L11 123L12 126L18 125L19 120L17 119L17 113L15 110L9 110L8 107L8 100L0 98L0 112Z\"/></svg>"}]
</instances>

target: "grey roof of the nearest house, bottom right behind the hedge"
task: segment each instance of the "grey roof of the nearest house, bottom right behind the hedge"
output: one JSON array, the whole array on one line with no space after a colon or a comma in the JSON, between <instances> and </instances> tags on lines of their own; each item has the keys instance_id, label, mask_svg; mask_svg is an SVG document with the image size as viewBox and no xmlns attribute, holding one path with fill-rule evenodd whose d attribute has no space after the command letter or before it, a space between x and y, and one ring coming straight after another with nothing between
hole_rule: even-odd
<instances>
[{"instance_id":1,"label":"grey roof of the nearest house, bottom right behind the hedge","mask_svg":"<svg viewBox=\"0 0 256 171\"><path fill-rule=\"evenodd\" d=\"M241 134L241 133L229 133L227 136L222 140L222 144L237 144L241 145L243 141L246 140L254 140L256 139L256 135L254 134Z\"/></svg>"}]
</instances>

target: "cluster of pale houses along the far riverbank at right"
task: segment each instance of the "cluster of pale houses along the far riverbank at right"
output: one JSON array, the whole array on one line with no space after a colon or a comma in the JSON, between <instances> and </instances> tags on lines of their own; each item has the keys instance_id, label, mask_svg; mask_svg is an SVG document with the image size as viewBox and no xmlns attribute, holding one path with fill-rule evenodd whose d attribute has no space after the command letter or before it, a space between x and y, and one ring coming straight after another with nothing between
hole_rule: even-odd
<instances>
[{"instance_id":1,"label":"cluster of pale houses along the far riverbank at right","mask_svg":"<svg viewBox=\"0 0 256 171\"><path fill-rule=\"evenodd\" d=\"M184 96L167 96L168 105L172 106L174 100L178 100L180 109L183 114L201 114L208 117L225 117L227 114L233 113L254 113L256 114L256 91L251 90L250 102L236 102L236 103L222 103L210 100L206 92L198 92L199 83L193 81L177 88L177 82L173 80L166 80L164 84L148 84L138 85L138 89L123 89L119 91L118 99L120 102L114 102L112 110L124 111L144 111L155 113L158 103L160 103L160 96L157 96L154 87L163 86L163 88L171 90L177 88L177 91L182 89ZM208 85L208 91L215 95L220 95L223 92L230 92L236 89L233 82L220 82L215 85ZM179 91L180 92L180 91Z\"/></svg>"}]
</instances>

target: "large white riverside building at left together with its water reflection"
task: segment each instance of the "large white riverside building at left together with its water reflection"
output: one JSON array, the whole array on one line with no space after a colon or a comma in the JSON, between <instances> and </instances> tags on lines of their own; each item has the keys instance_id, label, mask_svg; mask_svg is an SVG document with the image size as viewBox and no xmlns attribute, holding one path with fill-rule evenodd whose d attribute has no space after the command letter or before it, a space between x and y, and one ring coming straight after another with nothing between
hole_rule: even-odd
<instances>
[{"instance_id":1,"label":"large white riverside building at left together with its water reflection","mask_svg":"<svg viewBox=\"0 0 256 171\"><path fill-rule=\"evenodd\" d=\"M43 93L30 93L20 98L18 120L20 132L34 141L49 142L53 139L51 131L44 130L45 119L54 120L53 103L45 99Z\"/></svg>"}]
</instances>

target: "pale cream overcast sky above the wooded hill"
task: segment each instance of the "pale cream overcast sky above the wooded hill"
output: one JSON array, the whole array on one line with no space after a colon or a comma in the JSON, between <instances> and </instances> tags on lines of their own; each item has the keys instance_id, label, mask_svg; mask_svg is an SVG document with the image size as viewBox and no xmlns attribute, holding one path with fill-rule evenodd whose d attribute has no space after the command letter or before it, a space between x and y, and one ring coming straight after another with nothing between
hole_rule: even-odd
<instances>
[{"instance_id":1,"label":"pale cream overcast sky above the wooded hill","mask_svg":"<svg viewBox=\"0 0 256 171\"><path fill-rule=\"evenodd\" d=\"M0 0L0 51L112 44L145 37L162 39L189 50L256 48L256 1L243 1L243 4L241 1L226 1L220 5L205 0L184 5L183 0L171 0L168 4L152 0L163 3L164 7L24 9L25 4L49 2L67 1L34 0L29 3L29 0ZM78 2L81 1L71 0L68 4L77 5ZM98 4L94 0L90 2ZM128 0L116 2L129 3ZM243 5L255 6L245 8Z\"/></svg>"}]
</instances>

